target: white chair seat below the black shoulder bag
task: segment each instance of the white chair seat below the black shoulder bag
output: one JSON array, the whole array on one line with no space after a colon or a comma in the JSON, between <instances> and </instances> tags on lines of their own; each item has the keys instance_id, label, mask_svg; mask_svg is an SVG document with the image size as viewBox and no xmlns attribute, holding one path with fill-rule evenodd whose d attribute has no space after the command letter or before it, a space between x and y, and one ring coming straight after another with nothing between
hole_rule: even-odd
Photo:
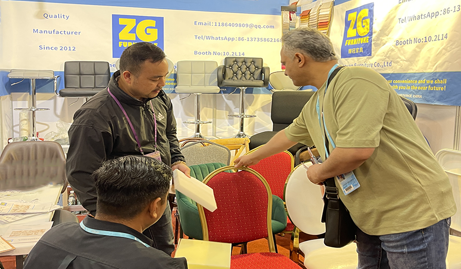
<instances>
[{"instance_id":1,"label":"white chair seat below the black shoulder bag","mask_svg":"<svg viewBox=\"0 0 461 269\"><path fill-rule=\"evenodd\" d=\"M335 248L325 246L323 239L314 239L300 243L299 249L304 253L304 266L309 269L357 268L358 254L355 243Z\"/></svg>"}]
</instances>

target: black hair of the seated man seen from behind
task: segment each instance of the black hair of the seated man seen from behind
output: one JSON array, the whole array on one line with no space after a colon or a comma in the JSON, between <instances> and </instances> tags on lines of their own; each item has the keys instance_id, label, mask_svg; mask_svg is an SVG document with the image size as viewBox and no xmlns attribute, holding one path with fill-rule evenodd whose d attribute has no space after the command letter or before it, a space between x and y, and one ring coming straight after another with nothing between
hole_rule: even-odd
<instances>
[{"instance_id":1,"label":"black hair of the seated man seen from behind","mask_svg":"<svg viewBox=\"0 0 461 269\"><path fill-rule=\"evenodd\" d=\"M92 175L98 195L96 214L129 220L159 197L163 204L172 175L171 168L151 157L105 161Z\"/></svg>"}]
</instances>

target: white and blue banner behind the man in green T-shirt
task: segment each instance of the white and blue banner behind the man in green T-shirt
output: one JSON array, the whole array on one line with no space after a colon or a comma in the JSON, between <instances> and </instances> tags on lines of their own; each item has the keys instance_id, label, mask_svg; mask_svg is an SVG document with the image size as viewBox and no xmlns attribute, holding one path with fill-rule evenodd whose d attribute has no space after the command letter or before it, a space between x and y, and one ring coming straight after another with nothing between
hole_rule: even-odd
<instances>
[{"instance_id":1,"label":"white and blue banner behind the man in green T-shirt","mask_svg":"<svg viewBox=\"0 0 461 269\"><path fill-rule=\"evenodd\" d=\"M376 69L417 103L461 105L460 0L351 0L334 8L340 63Z\"/></svg>"}]
</instances>

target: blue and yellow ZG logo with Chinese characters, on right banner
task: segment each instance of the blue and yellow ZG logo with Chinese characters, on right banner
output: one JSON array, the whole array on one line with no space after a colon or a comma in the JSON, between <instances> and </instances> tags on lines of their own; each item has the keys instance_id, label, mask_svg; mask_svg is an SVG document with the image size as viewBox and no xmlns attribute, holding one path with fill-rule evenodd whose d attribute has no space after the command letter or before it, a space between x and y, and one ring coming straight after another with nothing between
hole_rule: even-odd
<instances>
[{"instance_id":1,"label":"blue and yellow ZG logo with Chinese characters, on right banner","mask_svg":"<svg viewBox=\"0 0 461 269\"><path fill-rule=\"evenodd\" d=\"M346 11L341 58L372 55L374 3Z\"/></svg>"}]
</instances>

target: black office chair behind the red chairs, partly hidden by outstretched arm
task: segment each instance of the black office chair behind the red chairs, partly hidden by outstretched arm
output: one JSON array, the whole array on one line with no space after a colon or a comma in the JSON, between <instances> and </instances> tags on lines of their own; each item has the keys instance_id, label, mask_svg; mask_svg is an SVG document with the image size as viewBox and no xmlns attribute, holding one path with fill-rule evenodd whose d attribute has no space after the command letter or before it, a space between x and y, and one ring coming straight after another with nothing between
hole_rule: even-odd
<instances>
[{"instance_id":1,"label":"black office chair behind the red chairs, partly hidden by outstretched arm","mask_svg":"<svg viewBox=\"0 0 461 269\"><path fill-rule=\"evenodd\" d=\"M288 127L295 118L299 116L304 105L309 101L314 91L276 91L272 94L272 131L266 131L254 134L250 137L250 150L266 144L277 132ZM302 148L303 144L296 144L288 151L296 155L296 152Z\"/></svg>"}]
</instances>

